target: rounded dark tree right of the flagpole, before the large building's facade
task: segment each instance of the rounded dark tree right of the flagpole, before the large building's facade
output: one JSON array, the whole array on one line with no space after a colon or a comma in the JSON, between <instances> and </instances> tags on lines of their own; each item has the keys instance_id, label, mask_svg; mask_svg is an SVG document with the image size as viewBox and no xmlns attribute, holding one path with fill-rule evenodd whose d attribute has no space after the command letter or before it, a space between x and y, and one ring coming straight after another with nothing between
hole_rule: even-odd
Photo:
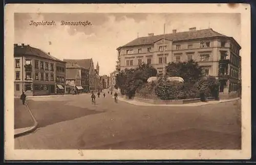
<instances>
[{"instance_id":1,"label":"rounded dark tree right of the flagpole, before the large building's facade","mask_svg":"<svg viewBox=\"0 0 256 165\"><path fill-rule=\"evenodd\" d=\"M166 75L170 77L182 77L185 83L194 84L203 76L203 73L198 63L190 60L188 62L168 63L166 66Z\"/></svg>"}]
</instances>

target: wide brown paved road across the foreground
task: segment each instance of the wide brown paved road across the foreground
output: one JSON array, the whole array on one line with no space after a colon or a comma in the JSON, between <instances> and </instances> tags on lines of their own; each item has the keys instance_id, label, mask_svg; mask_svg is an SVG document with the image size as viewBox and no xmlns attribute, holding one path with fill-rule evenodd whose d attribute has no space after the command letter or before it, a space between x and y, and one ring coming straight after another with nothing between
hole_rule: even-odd
<instances>
[{"instance_id":1,"label":"wide brown paved road across the foreground","mask_svg":"<svg viewBox=\"0 0 256 165\"><path fill-rule=\"evenodd\" d=\"M135 106L90 95L34 98L39 128L15 149L240 149L235 102L200 107Z\"/></svg>"}]
</instances>

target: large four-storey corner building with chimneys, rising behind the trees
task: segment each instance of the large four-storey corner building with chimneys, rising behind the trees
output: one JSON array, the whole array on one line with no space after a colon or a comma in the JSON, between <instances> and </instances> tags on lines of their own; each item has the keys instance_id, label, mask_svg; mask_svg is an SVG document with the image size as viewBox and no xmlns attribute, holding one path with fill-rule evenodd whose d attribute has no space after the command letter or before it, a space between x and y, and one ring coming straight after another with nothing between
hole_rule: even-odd
<instances>
[{"instance_id":1,"label":"large four-storey corner building with chimneys, rising behind the trees","mask_svg":"<svg viewBox=\"0 0 256 165\"><path fill-rule=\"evenodd\" d=\"M233 37L212 29L196 30L165 35L148 34L117 48L117 70L137 67L142 62L151 64L164 74L169 62L194 60L206 76L216 76L220 92L237 91L241 83L241 46Z\"/></svg>"}]
</instances>

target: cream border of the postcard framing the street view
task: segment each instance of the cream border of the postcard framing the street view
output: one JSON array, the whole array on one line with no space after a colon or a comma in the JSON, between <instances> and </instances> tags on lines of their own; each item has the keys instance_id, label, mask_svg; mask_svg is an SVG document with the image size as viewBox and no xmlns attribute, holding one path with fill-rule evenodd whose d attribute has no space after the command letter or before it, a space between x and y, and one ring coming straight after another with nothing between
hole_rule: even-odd
<instances>
[{"instance_id":1,"label":"cream border of the postcard framing the street view","mask_svg":"<svg viewBox=\"0 0 256 165\"><path fill-rule=\"evenodd\" d=\"M9 4L5 6L5 159L249 159L251 157L250 10L248 4L238 4L233 8L227 4ZM14 63L14 13L162 13L162 11L165 13L241 13L242 150L14 150L14 78L12 74L14 68L11 67Z\"/></svg>"}]
</instances>

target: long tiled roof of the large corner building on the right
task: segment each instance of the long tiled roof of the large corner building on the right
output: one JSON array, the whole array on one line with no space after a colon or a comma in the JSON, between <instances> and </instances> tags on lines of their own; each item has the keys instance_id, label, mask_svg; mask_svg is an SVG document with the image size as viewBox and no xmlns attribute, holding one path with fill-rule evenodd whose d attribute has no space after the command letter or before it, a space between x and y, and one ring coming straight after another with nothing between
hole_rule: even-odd
<instances>
[{"instance_id":1,"label":"long tiled roof of the large corner building on the right","mask_svg":"<svg viewBox=\"0 0 256 165\"><path fill-rule=\"evenodd\" d=\"M177 33L165 34L165 36L161 34L161 35L155 35L155 36L139 37L123 46L120 46L117 49L120 49L122 47L127 47L127 46L153 44L154 42L161 40L163 38L168 40L173 40L175 42L175 41L183 41L183 40L191 40L191 39L210 38L210 37L228 37L228 36L220 34L212 29L177 32ZM232 37L229 37L229 38L232 38Z\"/></svg>"}]
</instances>

